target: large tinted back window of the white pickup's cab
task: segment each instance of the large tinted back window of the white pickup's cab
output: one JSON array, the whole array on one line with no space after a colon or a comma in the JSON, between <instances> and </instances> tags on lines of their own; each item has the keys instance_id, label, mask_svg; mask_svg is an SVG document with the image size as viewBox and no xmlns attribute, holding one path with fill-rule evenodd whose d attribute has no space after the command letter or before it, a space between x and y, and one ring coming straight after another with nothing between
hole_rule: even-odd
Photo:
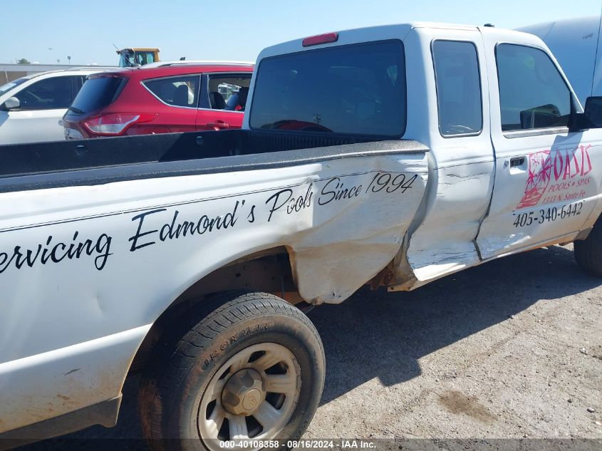
<instances>
[{"instance_id":1,"label":"large tinted back window of the white pickup's cab","mask_svg":"<svg viewBox=\"0 0 602 451\"><path fill-rule=\"evenodd\" d=\"M266 58L256 80L251 128L391 137L405 132L401 41Z\"/></svg>"}]
</instances>

